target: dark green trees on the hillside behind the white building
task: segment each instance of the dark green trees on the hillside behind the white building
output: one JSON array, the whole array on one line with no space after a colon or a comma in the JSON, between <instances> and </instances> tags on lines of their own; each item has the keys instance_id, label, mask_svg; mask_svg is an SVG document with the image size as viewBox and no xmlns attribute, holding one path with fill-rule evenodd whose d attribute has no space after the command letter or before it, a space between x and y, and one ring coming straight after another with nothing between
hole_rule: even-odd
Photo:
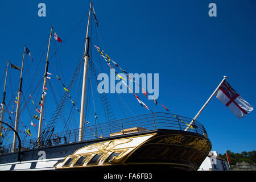
<instances>
[{"instance_id":1,"label":"dark green trees on the hillside behind the white building","mask_svg":"<svg viewBox=\"0 0 256 182\"><path fill-rule=\"evenodd\" d=\"M226 153L228 154L229 159L231 160L231 162L229 162L230 166L236 165L237 162L243 162L243 161L246 163L249 163L249 164L256 163L256 151L255 150L251 151L251 152L243 151L243 152L241 152L241 154L239 154L239 153L235 154L234 152L227 150ZM219 154L218 156L222 159L228 160L226 157L226 154L223 154L223 155Z\"/></svg>"}]
</instances>

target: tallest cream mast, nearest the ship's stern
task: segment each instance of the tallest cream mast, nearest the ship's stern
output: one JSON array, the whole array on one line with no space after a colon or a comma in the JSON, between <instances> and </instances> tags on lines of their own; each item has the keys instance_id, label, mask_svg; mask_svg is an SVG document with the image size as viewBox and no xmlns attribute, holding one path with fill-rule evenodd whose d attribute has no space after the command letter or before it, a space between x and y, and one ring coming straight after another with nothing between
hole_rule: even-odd
<instances>
[{"instance_id":1,"label":"tallest cream mast, nearest the ship's stern","mask_svg":"<svg viewBox=\"0 0 256 182\"><path fill-rule=\"evenodd\" d=\"M82 97L81 97L81 114L80 114L80 125L79 125L79 141L82 141L82 134L84 133L84 107L85 107L85 93L86 93L86 78L87 78L87 68L88 68L88 51L89 51L89 23L90 23L90 11L92 10L92 2L90 2L89 18L86 31L85 40L85 51L84 51L84 76L82 81Z\"/></svg>"}]
</instances>

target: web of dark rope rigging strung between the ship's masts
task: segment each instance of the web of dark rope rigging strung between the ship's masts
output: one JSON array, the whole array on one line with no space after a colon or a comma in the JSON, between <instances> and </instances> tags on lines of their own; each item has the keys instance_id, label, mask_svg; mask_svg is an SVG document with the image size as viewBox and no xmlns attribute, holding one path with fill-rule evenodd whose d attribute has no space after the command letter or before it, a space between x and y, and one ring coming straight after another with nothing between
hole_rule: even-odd
<instances>
[{"instance_id":1,"label":"web of dark rope rigging strung between the ship's masts","mask_svg":"<svg viewBox=\"0 0 256 182\"><path fill-rule=\"evenodd\" d=\"M90 8L90 10L92 10L92 8ZM67 132L69 130L71 130L71 128L78 128L77 127L77 115L80 114L80 110L77 108L79 107L79 102L76 102L78 99L78 90L80 89L80 79L81 79L81 68L82 65L84 64L84 58L85 56L88 57L88 79L89 81L86 83L86 104L85 104L85 118L83 118L83 122L85 123L85 127L82 127L85 129L85 131L82 131L82 133L84 132L88 132L91 131L92 134L94 135L95 138L98 138L98 133L102 133L101 131L101 125L100 125L100 121L99 121L99 115L98 113L100 113L100 107L96 107L96 101L94 101L94 97L96 97L96 95L98 93L93 91L92 88L92 82L93 79L94 81L96 81L96 84L98 84L98 80L97 80L97 75L100 72L104 72L104 70L102 69L102 67L105 67L105 63L103 63L104 65L102 66L101 61L102 61L102 57L100 55L96 55L96 57L98 57L98 60L100 60L100 66L97 65L96 61L94 61L94 57L93 55L96 52L94 48L94 45L102 45L102 40L100 37L100 32L98 30L98 22L96 23L92 23L92 25L94 24L94 28L96 28L96 31L93 31L92 28L93 26L90 26L90 36L88 36L88 38L85 39L84 37L84 42L83 42L83 46L82 46L82 50L86 48L86 40L88 40L88 48L87 51L80 53L79 56L79 63L77 64L76 68L75 68L75 73L73 73L73 77L71 78L71 81L69 82L68 86L65 88L68 90L68 92L65 90L63 90L62 85L58 84L56 81L58 81L56 79L59 78L58 76L61 77L61 79L63 79L63 82L65 85L67 85L65 83L65 80L67 80L67 75L64 74L63 72L63 68L61 66L61 60L60 60L60 50L61 47L64 46L65 43L67 43L67 40L73 35L73 33L77 30L78 27L81 26L81 24L83 23L83 20L85 19L86 16L88 16L88 14L90 14L90 10L88 13L86 13L82 19L76 24L75 28L73 28L73 30L71 31L70 34L68 34L67 38L63 39L63 42L61 44L57 44L57 42L55 42L54 40L52 41L53 44L53 48L54 48L54 52L52 53L52 55L50 55L48 57L47 54L47 64L49 64L49 70L48 70L48 65L46 65L45 69L45 73L42 74L38 72L39 69L42 69L41 65L42 65L42 61L44 56L46 55L46 49L47 49L47 44L48 41L46 41L44 43L44 45L42 46L42 48L40 49L39 53L34 57L34 61L31 61L29 59L27 59L28 57L26 57L25 59L25 65L26 66L26 70L24 71L23 76L27 76L27 80L31 80L30 77L30 72L32 69L32 64L37 64L36 66L36 71L34 72L34 76L32 76L32 80L30 82L30 85L28 86L28 89L26 90L26 92L21 92L20 93L20 97L22 97L22 100L20 102L20 119L19 119L19 129L18 131L21 131L20 134L22 135L22 142L23 143L30 143L30 147L32 146L33 148L35 147L41 147L41 146L47 146L49 143L47 143L47 141L49 141L49 139L51 138L55 138L58 137L55 135L56 133L56 127L59 123L59 121L62 121L62 131L63 132ZM93 15L94 18L95 14L93 11ZM94 22L93 21L93 16L89 16L89 20L90 22ZM89 22L88 22L89 25ZM96 26L97 25L97 26ZM51 30L52 32L52 30ZM93 37L93 32L98 32L98 34L95 35L95 39ZM48 37L49 42L51 41L51 35ZM90 42L89 42L90 39ZM100 39L100 41L98 40ZM101 43L99 43L101 42ZM89 44L90 43L90 44ZM32 49L31 49L32 50ZM48 52L52 52L52 49L49 49L49 45L48 45ZM97 52L96 52L97 53ZM40 59L38 58L39 55L41 55ZM55 62L53 61L55 58ZM109 60L110 61L110 60ZM112 60L113 61L113 60ZM54 66L52 66L54 64ZM35 66L34 66L35 67ZM56 70L54 70L53 68L55 68ZM96 70L97 68L97 70ZM122 69L121 69L122 70ZM123 71L123 70L122 70ZM50 73L51 75L47 75L47 73ZM117 72L116 72L117 73ZM9 74L9 78L12 77L11 75L13 75L12 73ZM40 75L40 76L39 76ZM42 76L43 75L43 76ZM49 76L48 80L47 80L47 76ZM119 76L119 75L117 75ZM40 86L42 86L42 81L44 79L44 82L47 81L47 85L44 84L43 87L43 92L40 91ZM10 78L9 84L11 85L11 82L14 80L14 78ZM27 81L26 80L26 81ZM36 84L35 84L36 83ZM73 86L77 84L77 89L76 89L76 94L74 93L75 91L73 91ZM57 86L59 85L59 86ZM12 86L11 90L17 90L17 89L13 89ZM47 88L45 88L47 87ZM128 87L129 88L129 87ZM56 93L57 90L57 93ZM10 97L10 102L6 105L6 110L11 110L10 107L11 105L14 103L15 100L15 95L16 92L9 92L13 93L12 96ZM60 97L61 93L63 93L62 97ZM44 103L42 103L42 97L46 95L46 100L44 100ZM49 98L49 96L51 96L51 98ZM134 96L136 96L134 94ZM72 100L71 100L72 97ZM75 98L75 99L73 99ZM71 102L69 102L69 99ZM127 106L127 104L125 103L125 101L121 98L121 96L119 96L119 94L115 93L115 99L117 100L118 104L119 102L122 102L123 105L119 105L121 106L120 109L123 113L123 115L126 115L125 113L125 109L123 109L122 107L127 107L127 109L131 112L131 114L133 114L133 111L130 109L129 106ZM119 101L118 101L119 99ZM49 101L51 100L51 101ZM143 103L141 100L138 99L139 103ZM34 102L35 101L35 102ZM49 110L51 110L53 107L51 106L51 109L47 109L48 107L48 102L50 102L52 104L52 102L55 102L56 104L56 109L53 110L53 112L51 112L52 116L51 118L49 118L48 116L49 114ZM112 133L112 130L115 127L120 127L120 123L119 121L117 121L117 117L114 114L114 111L112 109L112 106L110 105L110 101L109 98L107 97L106 93L101 93L100 94L100 101L101 101L101 105L102 105L102 109L104 111L104 115L105 115L105 119L102 118L102 114L101 114L101 121L108 121L109 123L109 132ZM31 102L33 102L33 105L31 104ZM44 110L44 113L42 114L42 117L38 117L38 115L40 113L42 113L42 109L39 111L38 107L36 105L38 105L38 103L43 104L43 106L41 106L41 108ZM71 104L69 104L71 103ZM50 104L50 105L51 105ZM144 103L143 103L144 105ZM67 107L69 106L69 111L67 111ZM146 107L146 105L144 105ZM91 109L90 107L92 107L93 109ZM12 108L14 108L14 105L12 106ZM75 109L74 109L75 108ZM79 107L80 108L80 107ZM146 107L147 108L147 107ZM166 107L165 107L166 108ZM147 108L148 109L148 108ZM79 114L77 114L76 112L79 111ZM150 109L148 109L150 110ZM167 109L166 109L167 110ZM151 110L150 110L151 111ZM27 113L26 115L23 116L24 113ZM7 113L7 112L6 112ZM75 116L76 115L76 116ZM89 115L91 115L89 117ZM133 114L134 115L134 114ZM134 115L135 116L135 115ZM7 118L8 117L8 118ZM35 118L39 118L40 121L42 120L42 132L38 130L38 123L36 123L36 127L31 126L31 123L35 123L33 121L37 121L35 120ZM11 126L14 126L14 116L10 113L5 115L5 119L4 121L7 121ZM90 123L90 125L89 125ZM73 126L72 126L73 124ZM81 128L81 126L80 126ZM92 129L93 128L93 129ZM30 129L30 131L32 130L32 133L38 133L38 138L32 138L29 139L28 138L28 130ZM101 132L100 132L101 131ZM6 130L3 132L4 135L1 138L1 143L2 146L11 146L11 140L12 140L12 132L10 130ZM69 133L70 134L70 133ZM33 135L35 136L35 134ZM83 139L83 138L81 138ZM10 148L10 147L7 147Z\"/></svg>"}]
</instances>

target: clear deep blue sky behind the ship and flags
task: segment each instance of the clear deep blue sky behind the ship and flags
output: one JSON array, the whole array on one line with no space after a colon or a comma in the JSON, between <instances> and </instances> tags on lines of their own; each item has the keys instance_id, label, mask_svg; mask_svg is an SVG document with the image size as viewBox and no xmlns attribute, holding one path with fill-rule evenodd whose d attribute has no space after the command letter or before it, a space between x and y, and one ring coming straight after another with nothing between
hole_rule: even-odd
<instances>
[{"instance_id":1,"label":"clear deep blue sky behind the ship and flags","mask_svg":"<svg viewBox=\"0 0 256 182\"><path fill-rule=\"evenodd\" d=\"M38 4L46 4L46 17L38 16ZM209 3L216 3L217 17L209 17ZM256 105L255 60L256 60L256 13L254 0L246 1L93 1L99 27L93 22L94 44L104 49L114 61L129 73L159 73L159 100L171 113L193 118L222 80L228 82L252 106ZM1 67L0 93L2 98L3 81L7 60L21 67L24 45L34 58L26 55L24 64L23 93L33 81L34 89L44 73L46 51L42 51L48 41L49 31L55 32L64 40L53 42L49 55L56 49L58 53L49 60L49 72L58 75L68 85L81 59L86 31L89 1L11 1L1 2ZM85 18L77 26L82 17ZM72 33L72 34L71 34ZM99 36L100 35L100 36ZM95 55L96 49L92 49ZM42 53L44 55L42 56ZM42 59L41 59L42 57ZM95 56L95 60L97 60ZM98 60L97 60L98 61ZM102 63L102 65L101 65ZM98 65L109 73L104 62ZM7 83L6 102L18 90L19 73L9 69L11 83ZM81 81L81 73L77 82ZM33 80L35 78L35 80ZM64 90L54 76L51 79L57 98ZM43 83L35 92L35 100L42 93ZM80 109L81 82L75 86L71 96ZM77 92L77 93L76 93ZM96 94L96 93L94 93ZM55 110L55 102L46 101L46 121ZM129 109L125 114L120 110L115 96L108 95L117 118L131 117L133 114L148 113L131 94L121 94ZM27 95L25 96L27 97ZM96 108L102 108L100 97ZM152 101L143 102L153 111L165 111ZM13 101L14 102L14 101ZM13 105L9 106L9 108ZM36 100L38 102L38 100ZM122 103L121 103L122 104ZM30 104L28 107L34 109ZM67 106L71 108L71 106ZM93 107L91 106L91 110ZM32 112L32 111L31 111ZM25 111L26 113L26 111ZM32 114L35 112L33 111ZM102 110L97 111L103 118ZM76 115L76 114L75 114ZM93 113L92 113L93 115ZM7 118L7 115L5 116ZM30 123L28 116L23 122ZM79 117L75 116L77 126ZM101 121L102 121L101 120ZM212 142L212 150L221 154L253 151L256 147L256 114L251 111L238 119L216 97L213 97L197 120L205 126ZM36 122L36 121L35 121ZM73 124L75 127L75 124ZM37 129L30 126L32 135ZM20 130L22 127L20 126ZM61 130L60 130L61 131Z\"/></svg>"}]
</instances>

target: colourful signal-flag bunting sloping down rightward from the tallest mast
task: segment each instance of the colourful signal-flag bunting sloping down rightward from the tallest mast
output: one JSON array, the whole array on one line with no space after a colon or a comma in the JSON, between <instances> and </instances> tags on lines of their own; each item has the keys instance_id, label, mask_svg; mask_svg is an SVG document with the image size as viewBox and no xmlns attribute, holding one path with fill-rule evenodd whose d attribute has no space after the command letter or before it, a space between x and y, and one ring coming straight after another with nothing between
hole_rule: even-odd
<instances>
[{"instance_id":1,"label":"colourful signal-flag bunting sloping down rightward from the tallest mast","mask_svg":"<svg viewBox=\"0 0 256 182\"><path fill-rule=\"evenodd\" d=\"M129 78L129 80L130 80L131 82L134 82L135 84L137 84L139 87L142 88L142 86L139 85L138 82L136 82L134 79L131 79L131 77L129 77L128 73L127 73L124 69L122 69L117 63L115 63L115 61L113 61L112 59L110 59L110 57L109 57L108 55L106 55L106 53L105 53L101 48L99 48L99 47L97 47L97 46L95 46L95 45L94 45L94 47L97 49L97 51L100 53L100 55L104 58L104 60L106 61L106 63L109 65L109 67L110 67L111 69L114 69L114 68L110 65L110 61L112 61L112 63L113 63L116 67L118 67L119 69L121 69L121 71L122 71L123 73L125 73L125 75ZM123 81L123 80L125 80L125 78L122 78L121 76L119 76L116 71L115 71L115 74L116 74L119 78L121 78L123 84L125 84L125 85L127 86L127 88L130 90L130 92L133 93L133 91L129 88L129 86ZM146 90L142 88L142 91L143 91L144 96L147 97L147 92L146 92ZM134 93L133 93L133 94L134 94ZM137 98L139 104L141 104L141 105L144 106L146 109L148 109L148 107L141 101L141 99L140 99L136 94L134 94L134 96ZM152 97L152 96L151 96L151 97ZM155 99L154 97L152 97L152 100L154 101L155 105L158 104L158 101L156 101L156 99ZM159 103L159 104L162 105L162 106L164 107L164 109L166 109L167 111L169 111L163 104L161 104L161 103ZM148 110L150 110L150 109L148 109Z\"/></svg>"}]
</instances>

